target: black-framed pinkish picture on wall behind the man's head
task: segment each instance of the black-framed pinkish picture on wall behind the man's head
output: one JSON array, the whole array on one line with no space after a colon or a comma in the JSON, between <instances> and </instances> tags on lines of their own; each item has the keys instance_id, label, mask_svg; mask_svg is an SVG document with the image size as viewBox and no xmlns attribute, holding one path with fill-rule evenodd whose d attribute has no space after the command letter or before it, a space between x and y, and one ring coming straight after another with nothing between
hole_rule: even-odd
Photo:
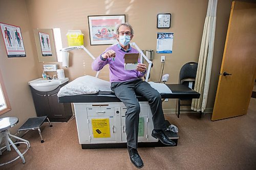
<instances>
[{"instance_id":1,"label":"black-framed pinkish picture on wall behind the man's head","mask_svg":"<svg viewBox=\"0 0 256 170\"><path fill-rule=\"evenodd\" d=\"M117 43L116 26L125 23L125 15L88 16L91 45Z\"/></svg>"}]
</instances>

